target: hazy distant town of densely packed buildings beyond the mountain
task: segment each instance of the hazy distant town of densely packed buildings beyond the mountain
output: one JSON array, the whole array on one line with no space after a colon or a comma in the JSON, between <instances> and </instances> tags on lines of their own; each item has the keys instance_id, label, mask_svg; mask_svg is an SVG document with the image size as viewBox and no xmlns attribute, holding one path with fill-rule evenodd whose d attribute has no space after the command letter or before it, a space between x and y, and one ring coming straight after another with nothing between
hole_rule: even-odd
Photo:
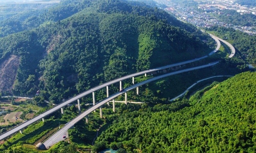
<instances>
[{"instance_id":1,"label":"hazy distant town of densely packed buildings beyond the mountain","mask_svg":"<svg viewBox=\"0 0 256 153\"><path fill-rule=\"evenodd\" d=\"M228 24L218 20L218 18L212 15L221 15L222 10L224 9L236 10L240 14L252 13L256 15L256 7L249 8L248 6L241 6L230 0L197 0L197 2L199 1L200 3L198 6L184 7L183 4L173 3L172 1L156 0L157 3L167 6L165 9L166 11L171 12L181 20L196 25L197 27L211 27L213 25L219 25L224 27L231 27L251 35L256 34L256 27Z\"/></svg>"}]
</instances>

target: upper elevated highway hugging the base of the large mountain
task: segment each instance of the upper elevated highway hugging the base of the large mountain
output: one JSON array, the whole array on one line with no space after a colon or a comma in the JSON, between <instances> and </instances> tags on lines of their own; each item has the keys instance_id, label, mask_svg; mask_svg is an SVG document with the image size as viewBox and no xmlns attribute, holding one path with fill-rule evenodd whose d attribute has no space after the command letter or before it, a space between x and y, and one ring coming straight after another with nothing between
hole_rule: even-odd
<instances>
[{"instance_id":1,"label":"upper elevated highway hugging the base of the large mountain","mask_svg":"<svg viewBox=\"0 0 256 153\"><path fill-rule=\"evenodd\" d=\"M220 45L219 45L220 41L217 40L215 37L212 37L212 38L217 42L217 47L209 55L212 55L213 53L215 53L220 48ZM123 81L123 80L126 80L128 78L137 77L137 76L143 75L145 73L150 73L150 72L154 72L154 71L158 71L158 70L162 70L162 69L167 69L167 68L171 68L171 67L175 67L175 66L191 63L191 62L196 62L196 61L199 61L201 59L204 59L204 58L208 57L209 55L205 55L203 57L196 58L196 59L193 59L193 60L188 60L188 61L184 61L184 62L179 62L179 63L174 63L174 64L158 67L158 68L155 68L155 69L149 69L149 70L141 71L141 72L134 73L134 74L131 74L131 75L127 75L127 76L124 76L124 77L121 77L121 78L109 81L107 83L101 84L99 86L96 86L96 87L94 87L92 89L89 89L87 91L84 91L84 92L76 95L73 98L70 98L70 99L60 103L59 105L54 106L53 108L45 111L44 113L42 113L40 115L37 115L36 117L34 117L34 118L30 119L30 120L27 120L26 122L20 124L17 127L12 128L11 130L9 130L9 131L5 132L4 134L0 135L0 140L3 140L4 138L6 138L6 137L8 137L8 136L10 136L10 135L12 135L12 134L22 130L23 128L26 128L28 125L36 122L37 120L40 120L40 119L44 118L45 116L47 116L47 115L49 115L49 114L51 114L51 113L53 113L53 112L55 112L57 110L60 110L62 107L66 106L68 104L71 104L72 102L76 101L77 99L80 99L80 98L82 98L82 97L84 97L84 96L86 96L88 94L91 94L94 91L100 90L100 89L102 89L102 88L104 88L106 86L118 83L119 81Z\"/></svg>"}]
</instances>

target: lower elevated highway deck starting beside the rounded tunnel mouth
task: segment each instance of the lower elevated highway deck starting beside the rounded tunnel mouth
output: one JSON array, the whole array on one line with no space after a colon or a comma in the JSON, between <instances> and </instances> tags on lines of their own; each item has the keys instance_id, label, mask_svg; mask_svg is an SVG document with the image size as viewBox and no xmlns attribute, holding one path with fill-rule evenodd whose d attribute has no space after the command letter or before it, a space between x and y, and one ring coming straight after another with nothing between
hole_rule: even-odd
<instances>
[{"instance_id":1,"label":"lower elevated highway deck starting beside the rounded tunnel mouth","mask_svg":"<svg viewBox=\"0 0 256 153\"><path fill-rule=\"evenodd\" d=\"M117 92L117 93L109 96L108 98L105 98L101 102L99 102L99 103L95 104L94 106L88 108L86 111L84 111L83 113L78 115L76 118L74 118L71 121L69 121L63 128L61 128L59 131L57 131L55 134L53 134L49 139L47 139L44 142L44 145L46 146L46 148L49 148L53 144L55 144L55 143L57 143L57 142L59 142L61 140L64 140L65 138L63 138L63 135L66 135L67 134L67 130L69 128L73 127L79 120L82 120L89 113L92 113L94 110L96 110L100 106L102 106L105 103L107 103L108 101L116 98L117 96L120 96L120 95L124 94L125 92L128 92L128 91L130 91L130 90L132 90L132 89L134 89L136 87L139 87L139 86L144 85L144 84L148 84L148 83L150 83L152 81L156 81L156 80L164 78L164 77L169 77L169 76L172 76L172 75L175 75L175 74L180 74L180 73L183 73L183 72L188 72L188 71L192 71L192 70L196 70L196 69L203 69L203 68L206 68L206 67L213 66L213 65L215 65L217 63L219 63L219 62L213 62L213 63L209 63L209 64L206 64L206 65L197 66L197 67L194 67L194 68L178 70L178 71L167 73L167 74L164 74L164 75L161 75L161 76L153 77L153 78L150 78L148 80L142 81L142 82L140 82L138 84L134 84L132 86L129 86L129 87L125 88L124 91Z\"/></svg>"}]
</instances>

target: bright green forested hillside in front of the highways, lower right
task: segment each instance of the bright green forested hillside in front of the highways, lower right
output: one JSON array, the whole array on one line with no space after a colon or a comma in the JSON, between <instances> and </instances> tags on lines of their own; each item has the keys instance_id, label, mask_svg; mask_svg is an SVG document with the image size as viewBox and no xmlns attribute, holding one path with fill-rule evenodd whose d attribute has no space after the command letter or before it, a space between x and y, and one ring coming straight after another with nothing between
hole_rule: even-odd
<instances>
[{"instance_id":1,"label":"bright green forested hillside in front of the highways, lower right","mask_svg":"<svg viewBox=\"0 0 256 153\"><path fill-rule=\"evenodd\" d=\"M189 100L127 106L97 143L127 152L255 152L255 80L255 72L245 72Z\"/></svg>"}]
</instances>

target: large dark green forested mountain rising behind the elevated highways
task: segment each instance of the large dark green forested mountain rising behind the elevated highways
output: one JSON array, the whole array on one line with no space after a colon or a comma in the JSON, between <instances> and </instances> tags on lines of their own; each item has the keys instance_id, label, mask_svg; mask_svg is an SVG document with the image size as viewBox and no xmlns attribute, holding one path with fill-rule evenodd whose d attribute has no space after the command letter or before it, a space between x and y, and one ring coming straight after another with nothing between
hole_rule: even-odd
<instances>
[{"instance_id":1,"label":"large dark green forested mountain rising behind the elevated highways","mask_svg":"<svg viewBox=\"0 0 256 153\"><path fill-rule=\"evenodd\" d=\"M17 69L0 84L16 95L40 89L55 103L116 77L199 57L215 44L162 10L119 0L63 0L0 26L1 66ZM19 63L10 65L12 59Z\"/></svg>"}]
</instances>

